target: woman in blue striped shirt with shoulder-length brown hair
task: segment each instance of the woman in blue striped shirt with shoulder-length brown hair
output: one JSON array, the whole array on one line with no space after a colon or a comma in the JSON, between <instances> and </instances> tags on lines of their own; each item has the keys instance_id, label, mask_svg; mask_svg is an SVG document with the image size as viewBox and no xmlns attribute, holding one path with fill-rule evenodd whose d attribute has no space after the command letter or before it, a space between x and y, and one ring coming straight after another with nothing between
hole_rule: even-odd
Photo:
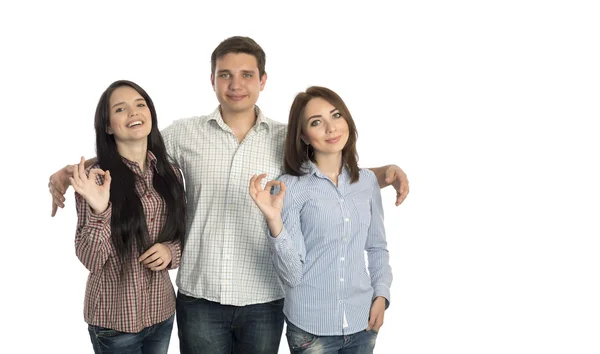
<instances>
[{"instance_id":1,"label":"woman in blue striped shirt with shoulder-length brown hair","mask_svg":"<svg viewBox=\"0 0 600 354\"><path fill-rule=\"evenodd\" d=\"M250 180L285 288L292 353L372 353L389 306L381 194L374 173L358 167L356 139L344 101L310 87L290 110L287 174L264 188L265 174Z\"/></svg>"}]
</instances>

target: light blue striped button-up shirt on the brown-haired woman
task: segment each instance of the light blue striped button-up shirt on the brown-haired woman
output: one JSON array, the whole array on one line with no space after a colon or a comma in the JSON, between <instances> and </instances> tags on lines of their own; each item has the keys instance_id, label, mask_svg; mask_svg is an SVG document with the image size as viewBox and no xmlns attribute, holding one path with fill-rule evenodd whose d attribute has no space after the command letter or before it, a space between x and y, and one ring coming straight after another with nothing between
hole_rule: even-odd
<instances>
[{"instance_id":1,"label":"light blue striped button-up shirt on the brown-haired woman","mask_svg":"<svg viewBox=\"0 0 600 354\"><path fill-rule=\"evenodd\" d=\"M314 335L346 335L367 328L372 300L389 303L392 270L375 174L360 170L338 186L312 163L308 174L283 175L283 230L269 237L285 289L284 314ZM365 251L368 266L365 260Z\"/></svg>"}]
</instances>

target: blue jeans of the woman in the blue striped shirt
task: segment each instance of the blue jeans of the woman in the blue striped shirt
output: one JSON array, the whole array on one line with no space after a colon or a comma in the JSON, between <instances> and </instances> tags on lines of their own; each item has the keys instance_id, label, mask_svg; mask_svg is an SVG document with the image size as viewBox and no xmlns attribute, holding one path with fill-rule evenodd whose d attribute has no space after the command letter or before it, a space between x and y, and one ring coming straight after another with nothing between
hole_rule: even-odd
<instances>
[{"instance_id":1,"label":"blue jeans of the woman in the blue striped shirt","mask_svg":"<svg viewBox=\"0 0 600 354\"><path fill-rule=\"evenodd\" d=\"M286 322L290 353L302 354L373 354L377 332L360 331L345 336L316 336Z\"/></svg>"}]
</instances>

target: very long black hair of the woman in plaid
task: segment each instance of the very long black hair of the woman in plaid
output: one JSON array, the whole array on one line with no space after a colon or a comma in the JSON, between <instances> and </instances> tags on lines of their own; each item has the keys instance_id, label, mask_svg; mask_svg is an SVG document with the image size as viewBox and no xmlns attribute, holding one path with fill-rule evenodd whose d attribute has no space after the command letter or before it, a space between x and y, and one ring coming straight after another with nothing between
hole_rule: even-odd
<instances>
[{"instance_id":1,"label":"very long black hair of the woman in plaid","mask_svg":"<svg viewBox=\"0 0 600 354\"><path fill-rule=\"evenodd\" d=\"M150 245L146 217L142 202L135 188L135 174L127 167L117 150L114 135L107 133L110 126L110 97L119 87L129 86L146 100L152 116L152 130L148 135L148 150L156 156L156 171L152 180L154 189L166 204L167 218L162 225L157 242L182 240L185 233L185 192L183 184L169 163L165 143L158 131L156 109L150 96L137 84L119 80L113 82L100 96L96 107L94 126L96 128L96 154L98 164L103 170L109 170L112 178L110 184L111 239L122 264L132 256L137 248L142 254Z\"/></svg>"}]
</instances>

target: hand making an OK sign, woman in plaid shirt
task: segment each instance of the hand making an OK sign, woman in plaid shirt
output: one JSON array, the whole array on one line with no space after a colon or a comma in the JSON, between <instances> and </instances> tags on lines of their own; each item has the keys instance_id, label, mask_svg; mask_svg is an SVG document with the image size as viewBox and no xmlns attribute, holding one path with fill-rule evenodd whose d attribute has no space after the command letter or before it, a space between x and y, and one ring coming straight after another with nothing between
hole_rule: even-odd
<instances>
[{"instance_id":1,"label":"hand making an OK sign, woman in plaid shirt","mask_svg":"<svg viewBox=\"0 0 600 354\"><path fill-rule=\"evenodd\" d=\"M110 172L94 168L90 171L90 175L86 176L84 163L85 160L82 156L81 162L74 166L73 177L69 177L69 181L71 181L75 192L79 193L88 202L92 211L95 214L100 214L108 208L108 201L110 199ZM96 183L96 175L104 176L103 185L100 186Z\"/></svg>"}]
</instances>

